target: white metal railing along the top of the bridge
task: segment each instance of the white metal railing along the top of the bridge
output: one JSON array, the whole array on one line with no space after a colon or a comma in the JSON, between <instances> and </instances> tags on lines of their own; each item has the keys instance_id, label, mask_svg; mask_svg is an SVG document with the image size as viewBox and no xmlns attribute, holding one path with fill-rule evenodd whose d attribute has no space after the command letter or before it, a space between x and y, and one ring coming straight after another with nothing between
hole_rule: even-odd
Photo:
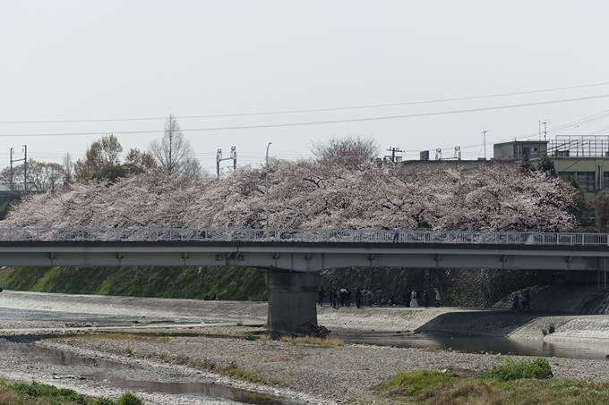
<instances>
[{"instance_id":1,"label":"white metal railing along the top of the bridge","mask_svg":"<svg viewBox=\"0 0 609 405\"><path fill-rule=\"evenodd\" d=\"M390 230L183 229L183 228L0 228L0 241L305 241L391 243ZM609 246L606 233L401 231L399 243L530 244Z\"/></svg>"}]
</instances>

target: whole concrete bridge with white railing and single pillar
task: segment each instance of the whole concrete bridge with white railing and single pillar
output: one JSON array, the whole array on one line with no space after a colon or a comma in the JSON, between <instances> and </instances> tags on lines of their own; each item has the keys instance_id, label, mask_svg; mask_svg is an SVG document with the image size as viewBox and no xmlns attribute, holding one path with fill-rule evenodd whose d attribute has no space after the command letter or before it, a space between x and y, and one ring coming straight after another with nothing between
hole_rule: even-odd
<instances>
[{"instance_id":1,"label":"whole concrete bridge with white railing and single pillar","mask_svg":"<svg viewBox=\"0 0 609 405\"><path fill-rule=\"evenodd\" d=\"M344 267L602 272L609 235L541 232L0 228L0 266L246 266L267 270L268 325L317 324L319 272Z\"/></svg>"}]
</instances>

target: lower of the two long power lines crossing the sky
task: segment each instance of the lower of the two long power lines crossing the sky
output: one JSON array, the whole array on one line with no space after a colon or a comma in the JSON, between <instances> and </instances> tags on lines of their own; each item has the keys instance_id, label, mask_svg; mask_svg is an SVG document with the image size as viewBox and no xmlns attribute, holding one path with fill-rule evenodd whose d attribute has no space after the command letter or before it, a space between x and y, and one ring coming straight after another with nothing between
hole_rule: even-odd
<instances>
[{"instance_id":1,"label":"lower of the two long power lines crossing the sky","mask_svg":"<svg viewBox=\"0 0 609 405\"><path fill-rule=\"evenodd\" d=\"M183 132L234 131L234 130L252 130L252 129L258 129L258 128L280 128L280 127L296 127L296 126L305 126L305 125L324 125L324 124L330 124L330 123L344 123L344 122L384 121L384 120L396 120L396 119L400 119L400 118L415 118L415 117L425 117L425 116L445 115L445 114L464 114L464 113L475 113L478 111L502 110L502 109L508 109L508 108L518 108L518 107L526 107L526 106L533 106L533 105L568 103L571 101L582 101L582 100L590 100L590 99L594 99L594 98L605 98L605 97L609 97L609 94L600 95L600 96L565 98L562 100L539 101L536 103L497 105L497 106L493 106L493 107L480 107L480 108L467 108L464 110L449 110L449 111L440 111L440 112L433 112L433 113L388 115L388 116L382 116L382 117L352 118L352 119L347 119L347 120L270 123L270 124L240 125L240 126L230 126L230 127L208 127L208 128L194 128L194 129L190 129L190 130L181 130L181 131L183 131ZM129 135L129 134L161 133L161 132L164 132L164 131L163 130L153 130L153 131L104 131L104 132L70 132L70 133L65 133L65 132L64 133L23 133L23 134L2 134L2 135L0 135L0 137L107 135L108 133L119 134L119 135Z\"/></svg>"}]
</instances>

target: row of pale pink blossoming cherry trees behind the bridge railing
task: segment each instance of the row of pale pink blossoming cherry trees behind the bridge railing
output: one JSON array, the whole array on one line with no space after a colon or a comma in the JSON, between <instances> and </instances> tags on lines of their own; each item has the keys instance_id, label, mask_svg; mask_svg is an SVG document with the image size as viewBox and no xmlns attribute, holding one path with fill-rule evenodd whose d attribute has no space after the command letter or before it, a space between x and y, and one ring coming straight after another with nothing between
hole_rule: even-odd
<instances>
[{"instance_id":1,"label":"row of pale pink blossoming cherry trees behind the bridge railing","mask_svg":"<svg viewBox=\"0 0 609 405\"><path fill-rule=\"evenodd\" d=\"M270 227L551 231L575 224L570 184L517 165L464 174L441 168L405 176L378 160L270 159ZM263 228L265 170L216 178L150 169L25 198L2 226Z\"/></svg>"}]
</instances>

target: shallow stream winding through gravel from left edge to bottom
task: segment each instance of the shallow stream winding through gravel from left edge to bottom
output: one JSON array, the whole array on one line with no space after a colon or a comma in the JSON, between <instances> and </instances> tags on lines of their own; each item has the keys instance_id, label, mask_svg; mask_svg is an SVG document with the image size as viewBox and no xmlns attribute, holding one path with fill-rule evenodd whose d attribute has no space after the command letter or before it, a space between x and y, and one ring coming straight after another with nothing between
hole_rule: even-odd
<instances>
[{"instance_id":1,"label":"shallow stream winding through gravel from left edge to bottom","mask_svg":"<svg viewBox=\"0 0 609 405\"><path fill-rule=\"evenodd\" d=\"M158 382L120 376L118 371L133 369L114 361L91 359L75 355L64 350L43 348L31 343L0 341L0 351L6 356L17 356L23 362L38 364L38 367L65 367L75 372L75 375L59 375L56 379L90 379L99 384L107 384L140 392L159 392L199 400L227 400L227 403L245 403L253 405L302 405L300 401L290 401L268 394L251 392L213 381L191 383Z\"/></svg>"}]
</instances>

